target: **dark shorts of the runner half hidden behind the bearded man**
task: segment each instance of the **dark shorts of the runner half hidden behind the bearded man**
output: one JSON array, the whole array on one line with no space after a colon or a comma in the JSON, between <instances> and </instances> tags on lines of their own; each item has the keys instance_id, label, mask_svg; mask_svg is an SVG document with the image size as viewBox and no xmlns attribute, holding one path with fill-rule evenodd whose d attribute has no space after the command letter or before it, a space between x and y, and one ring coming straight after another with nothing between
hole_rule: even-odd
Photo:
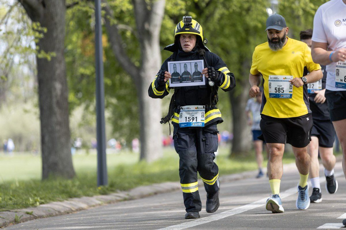
<instances>
[{"instance_id":1,"label":"dark shorts of the runner half hidden behind the bearded man","mask_svg":"<svg viewBox=\"0 0 346 230\"><path fill-rule=\"evenodd\" d=\"M318 146L324 148L333 148L335 141L335 131L333 123L330 120L314 120L311 130L311 136L318 138Z\"/></svg>"}]
</instances>

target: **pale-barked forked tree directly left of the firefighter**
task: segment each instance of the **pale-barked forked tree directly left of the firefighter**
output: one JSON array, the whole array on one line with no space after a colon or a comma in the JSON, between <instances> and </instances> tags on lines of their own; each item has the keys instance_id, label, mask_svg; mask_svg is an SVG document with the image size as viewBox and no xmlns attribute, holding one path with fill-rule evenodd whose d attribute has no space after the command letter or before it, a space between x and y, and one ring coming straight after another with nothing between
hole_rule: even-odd
<instances>
[{"instance_id":1,"label":"pale-barked forked tree directly left of the firefighter","mask_svg":"<svg viewBox=\"0 0 346 230\"><path fill-rule=\"evenodd\" d=\"M136 35L139 43L140 60L134 62L124 49L126 44L119 32L119 22L112 5L103 1L104 20L108 40L114 56L132 78L139 102L140 159L148 162L162 156L161 101L148 97L148 87L161 66L160 29L165 0L133 0ZM126 4L126 3L123 3ZM130 6L129 6L130 7ZM133 41L135 42L135 41ZM131 44L132 45L132 44ZM131 97L131 95L129 95Z\"/></svg>"}]
</instances>

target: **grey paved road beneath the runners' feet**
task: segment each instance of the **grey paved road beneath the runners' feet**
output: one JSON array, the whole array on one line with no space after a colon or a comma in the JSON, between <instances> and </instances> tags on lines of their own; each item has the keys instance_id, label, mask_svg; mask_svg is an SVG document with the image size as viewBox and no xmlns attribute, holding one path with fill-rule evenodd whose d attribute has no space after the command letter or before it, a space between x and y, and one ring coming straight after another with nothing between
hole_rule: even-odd
<instances>
[{"instance_id":1,"label":"grey paved road beneath the runners' feet","mask_svg":"<svg viewBox=\"0 0 346 230\"><path fill-rule=\"evenodd\" d=\"M158 194L138 200L124 201L99 206L89 210L62 216L37 219L19 223L6 230L60 230L60 229L331 229L342 227L337 219L346 212L346 180L341 163L336 168L339 188L336 194L327 194L325 179L321 183L321 203L312 203L308 210L297 210L297 169L284 169L281 180L281 197L284 213L272 214L265 210L265 201L270 194L267 178L244 179L222 183L219 210L205 211L206 193L200 184L203 198L201 218L184 219L181 191ZM321 175L322 170L321 170ZM254 175L255 176L255 175ZM310 192L311 194L311 188ZM346 215L346 214L345 214ZM345 217L346 218L346 217ZM321 227L327 226L329 227Z\"/></svg>"}]
</instances>

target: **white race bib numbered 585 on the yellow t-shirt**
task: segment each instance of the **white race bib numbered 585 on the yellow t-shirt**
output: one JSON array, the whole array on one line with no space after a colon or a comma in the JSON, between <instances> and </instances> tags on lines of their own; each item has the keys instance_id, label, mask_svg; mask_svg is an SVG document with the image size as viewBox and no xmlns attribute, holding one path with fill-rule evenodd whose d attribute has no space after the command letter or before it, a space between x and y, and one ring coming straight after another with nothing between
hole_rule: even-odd
<instances>
[{"instance_id":1,"label":"white race bib numbered 585 on the yellow t-shirt","mask_svg":"<svg viewBox=\"0 0 346 230\"><path fill-rule=\"evenodd\" d=\"M270 98L292 98L293 87L289 82L293 76L269 75L269 97Z\"/></svg>"}]
</instances>

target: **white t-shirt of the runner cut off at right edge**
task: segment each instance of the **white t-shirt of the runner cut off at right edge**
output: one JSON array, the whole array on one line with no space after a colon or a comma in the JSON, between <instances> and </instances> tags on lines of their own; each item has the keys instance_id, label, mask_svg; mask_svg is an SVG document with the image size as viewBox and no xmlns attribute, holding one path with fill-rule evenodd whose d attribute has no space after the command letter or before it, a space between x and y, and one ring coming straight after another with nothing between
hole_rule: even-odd
<instances>
[{"instance_id":1,"label":"white t-shirt of the runner cut off at right edge","mask_svg":"<svg viewBox=\"0 0 346 230\"><path fill-rule=\"evenodd\" d=\"M346 48L346 4L343 0L331 0L318 8L313 19L312 41L328 43L328 50ZM335 87L336 62L329 64L326 89L346 90Z\"/></svg>"}]
</instances>

